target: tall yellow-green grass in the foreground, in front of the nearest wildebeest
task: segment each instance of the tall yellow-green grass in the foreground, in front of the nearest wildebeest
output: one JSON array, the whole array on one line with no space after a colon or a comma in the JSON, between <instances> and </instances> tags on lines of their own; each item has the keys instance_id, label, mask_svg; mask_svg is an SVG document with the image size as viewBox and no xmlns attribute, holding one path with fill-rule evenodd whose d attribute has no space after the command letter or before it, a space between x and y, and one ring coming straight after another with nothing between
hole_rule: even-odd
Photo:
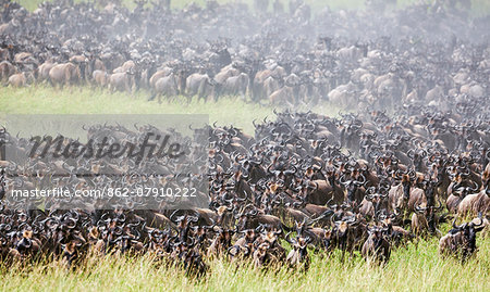
<instances>
[{"instance_id":1,"label":"tall yellow-green grass in the foreground, in front of the nearest wildebeest","mask_svg":"<svg viewBox=\"0 0 490 292\"><path fill-rule=\"evenodd\" d=\"M313 255L310 269L258 271L236 268L228 261L208 263L200 281L187 279L175 267L156 265L148 256L112 256L87 261L74 270L54 263L0 268L2 291L489 291L490 240L478 240L479 252L469 263L442 259L438 240L395 250L384 267L368 266L358 255L340 261Z\"/></svg>"}]
</instances>

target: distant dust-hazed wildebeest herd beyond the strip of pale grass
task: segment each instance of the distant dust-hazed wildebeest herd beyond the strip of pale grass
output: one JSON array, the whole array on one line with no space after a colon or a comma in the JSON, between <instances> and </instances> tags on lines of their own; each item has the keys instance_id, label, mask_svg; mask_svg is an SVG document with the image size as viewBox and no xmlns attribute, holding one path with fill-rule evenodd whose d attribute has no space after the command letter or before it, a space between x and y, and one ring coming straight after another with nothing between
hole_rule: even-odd
<instances>
[{"instance_id":1,"label":"distant dust-hazed wildebeest herd beyond the strip of pale grass","mask_svg":"<svg viewBox=\"0 0 490 292\"><path fill-rule=\"evenodd\" d=\"M470 18L461 4L383 15L376 5L383 1L369 1L365 11L311 15L302 0L291 0L289 12L268 12L260 7L268 1L257 0L264 13L215 1L177 11L166 1L138 1L133 11L52 1L34 12L2 2L0 78L14 87L90 84L146 89L159 100L240 96L351 109L450 107L488 92L490 21Z\"/></svg>"}]
</instances>

